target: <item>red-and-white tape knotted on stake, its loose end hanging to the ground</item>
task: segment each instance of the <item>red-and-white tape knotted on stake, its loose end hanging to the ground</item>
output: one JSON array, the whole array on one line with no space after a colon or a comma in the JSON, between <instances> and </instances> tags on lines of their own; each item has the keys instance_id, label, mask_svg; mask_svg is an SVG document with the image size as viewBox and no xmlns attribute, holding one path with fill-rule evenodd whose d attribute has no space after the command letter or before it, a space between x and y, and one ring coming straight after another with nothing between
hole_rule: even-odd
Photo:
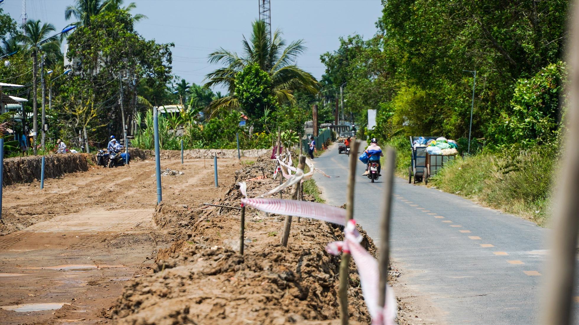
<instances>
[{"instance_id":1,"label":"red-and-white tape knotted on stake, its loose end hanging to the ground","mask_svg":"<svg viewBox=\"0 0 579 325\"><path fill-rule=\"evenodd\" d=\"M338 255L340 251L350 253L358 268L362 294L364 301L372 316L372 324L393 325L395 324L396 312L398 310L392 288L386 286L386 304L378 305L378 282L379 268L378 261L370 255L362 245L359 233L356 231L356 221L350 220L345 229L344 241L331 242L326 246L326 251L332 255Z\"/></svg>"}]
</instances>

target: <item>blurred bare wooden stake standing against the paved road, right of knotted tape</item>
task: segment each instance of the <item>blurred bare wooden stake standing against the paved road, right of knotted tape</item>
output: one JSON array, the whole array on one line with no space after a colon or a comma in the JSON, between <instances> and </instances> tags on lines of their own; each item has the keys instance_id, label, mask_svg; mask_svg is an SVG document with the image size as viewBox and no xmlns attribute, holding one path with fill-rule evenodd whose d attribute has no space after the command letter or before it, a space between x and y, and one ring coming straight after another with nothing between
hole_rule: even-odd
<instances>
[{"instance_id":1,"label":"blurred bare wooden stake standing against the paved road, right of knotted tape","mask_svg":"<svg viewBox=\"0 0 579 325\"><path fill-rule=\"evenodd\" d=\"M386 180L384 181L384 209L382 221L380 222L380 256L378 257L378 268L380 281L378 283L378 307L384 308L386 304L386 283L388 282L388 264L390 262L390 214L392 211L392 188L394 182L394 167L396 162L396 152L393 148L386 149Z\"/></svg>"}]
</instances>

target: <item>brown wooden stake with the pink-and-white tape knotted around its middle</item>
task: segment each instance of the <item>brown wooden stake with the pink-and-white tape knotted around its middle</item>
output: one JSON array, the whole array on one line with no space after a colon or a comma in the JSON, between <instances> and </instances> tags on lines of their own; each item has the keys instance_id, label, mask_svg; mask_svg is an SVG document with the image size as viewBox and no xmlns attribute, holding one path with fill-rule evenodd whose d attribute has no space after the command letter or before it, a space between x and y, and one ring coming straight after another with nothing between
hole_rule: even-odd
<instances>
[{"instance_id":1,"label":"brown wooden stake with the pink-and-white tape knotted around its middle","mask_svg":"<svg viewBox=\"0 0 579 325\"><path fill-rule=\"evenodd\" d=\"M346 193L346 222L354 215L354 185L356 185L356 162L358 160L359 141L354 141L350 148L350 173L348 175L348 189ZM347 325L348 314L348 283L349 283L350 253L342 253L340 261L340 286L338 298L340 302L340 324Z\"/></svg>"}]
</instances>

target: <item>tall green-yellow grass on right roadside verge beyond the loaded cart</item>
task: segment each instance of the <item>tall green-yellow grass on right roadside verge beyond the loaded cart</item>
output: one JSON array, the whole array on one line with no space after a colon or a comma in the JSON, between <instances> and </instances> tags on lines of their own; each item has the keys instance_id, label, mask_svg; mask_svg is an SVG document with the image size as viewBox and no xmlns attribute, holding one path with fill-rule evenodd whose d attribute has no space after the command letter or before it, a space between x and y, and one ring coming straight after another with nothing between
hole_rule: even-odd
<instances>
[{"instance_id":1,"label":"tall green-yellow grass on right roadside verge beyond the loaded cart","mask_svg":"<svg viewBox=\"0 0 579 325\"><path fill-rule=\"evenodd\" d=\"M545 226L557 155L546 148L457 158L431 184Z\"/></svg>"}]
</instances>

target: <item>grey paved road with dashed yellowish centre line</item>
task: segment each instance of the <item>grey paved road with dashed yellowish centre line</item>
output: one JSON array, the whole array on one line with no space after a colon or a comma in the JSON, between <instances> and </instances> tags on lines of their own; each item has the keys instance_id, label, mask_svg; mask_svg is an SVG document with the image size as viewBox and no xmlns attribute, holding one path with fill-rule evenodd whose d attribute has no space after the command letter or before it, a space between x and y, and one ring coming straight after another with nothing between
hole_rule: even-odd
<instances>
[{"instance_id":1,"label":"grey paved road with dashed yellowish centre line","mask_svg":"<svg viewBox=\"0 0 579 325\"><path fill-rule=\"evenodd\" d=\"M345 203L347 159L334 146L314 160L334 176L315 177L329 204ZM360 162L357 173L363 169ZM382 180L356 180L354 218L375 240ZM404 282L430 298L445 323L537 323L550 230L402 178L395 180L393 204L391 256L408 274ZM574 312L579 322L579 303Z\"/></svg>"}]
</instances>

